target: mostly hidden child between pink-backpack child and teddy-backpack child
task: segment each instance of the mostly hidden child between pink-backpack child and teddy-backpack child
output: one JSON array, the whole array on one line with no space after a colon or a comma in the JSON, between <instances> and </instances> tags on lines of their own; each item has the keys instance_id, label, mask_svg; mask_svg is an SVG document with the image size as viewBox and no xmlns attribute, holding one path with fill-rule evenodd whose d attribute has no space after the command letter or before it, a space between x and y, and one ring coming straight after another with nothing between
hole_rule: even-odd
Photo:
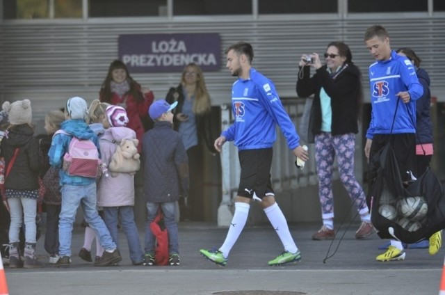
<instances>
[{"instance_id":1,"label":"mostly hidden child between pink-backpack child and teddy-backpack child","mask_svg":"<svg viewBox=\"0 0 445 295\"><path fill-rule=\"evenodd\" d=\"M100 102L99 99L95 99L91 102L90 107L88 108L88 115L86 118L87 124L90 126L92 131L95 132L97 135L97 138L101 138L102 135L105 133L104 125L102 124L102 121L104 118L106 118L105 110L106 107L110 104L106 104L105 102ZM102 154L102 152L101 152ZM103 157L103 154L102 154ZM103 161L102 161L103 162ZM102 208L97 208L99 216L104 219L104 211ZM81 257L82 260L85 260L86 262L92 262L91 257L91 245L92 241L96 240L96 261L100 261L102 257L102 253L104 253L104 248L100 246L99 238L96 237L95 230L90 228L90 225L86 223L84 220L82 222L82 226L85 228L85 236L83 239L83 246L81 250L79 251L79 257Z\"/></svg>"}]
</instances>

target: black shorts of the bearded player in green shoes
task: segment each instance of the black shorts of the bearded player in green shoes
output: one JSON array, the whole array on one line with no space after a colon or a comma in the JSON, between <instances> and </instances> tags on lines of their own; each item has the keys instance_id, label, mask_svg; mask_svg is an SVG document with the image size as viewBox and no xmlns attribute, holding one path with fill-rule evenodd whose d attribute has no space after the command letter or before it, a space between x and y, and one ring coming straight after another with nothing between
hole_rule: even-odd
<instances>
[{"instance_id":1,"label":"black shorts of the bearded player in green shoes","mask_svg":"<svg viewBox=\"0 0 445 295\"><path fill-rule=\"evenodd\" d=\"M258 198L274 196L270 183L270 167L272 166L272 148L259 150L241 150L238 152L241 165L241 177L238 187L238 196Z\"/></svg>"}]
</instances>

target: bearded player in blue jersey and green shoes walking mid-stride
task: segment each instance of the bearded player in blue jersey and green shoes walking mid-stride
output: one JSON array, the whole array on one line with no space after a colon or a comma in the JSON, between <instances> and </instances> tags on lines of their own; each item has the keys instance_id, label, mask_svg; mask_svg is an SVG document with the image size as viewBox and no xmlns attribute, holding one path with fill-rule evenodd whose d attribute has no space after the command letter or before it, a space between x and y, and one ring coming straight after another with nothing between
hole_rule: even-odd
<instances>
[{"instance_id":1,"label":"bearded player in blue jersey and green shoes walking mid-stride","mask_svg":"<svg viewBox=\"0 0 445 295\"><path fill-rule=\"evenodd\" d=\"M200 253L216 264L227 264L229 251L244 228L250 209L249 203L254 198L261 200L261 206L284 246L284 252L268 264L300 261L300 251L289 232L284 214L275 202L270 183L272 146L276 139L275 126L280 127L289 149L296 157L307 161L308 154L300 146L300 137L284 110L272 81L251 66L252 46L246 42L238 42L227 48L225 54L227 68L232 76L238 77L232 87L235 122L216 139L215 148L220 152L226 141L234 141L238 147L241 177L232 225L223 246L218 250L202 249Z\"/></svg>"}]
</instances>

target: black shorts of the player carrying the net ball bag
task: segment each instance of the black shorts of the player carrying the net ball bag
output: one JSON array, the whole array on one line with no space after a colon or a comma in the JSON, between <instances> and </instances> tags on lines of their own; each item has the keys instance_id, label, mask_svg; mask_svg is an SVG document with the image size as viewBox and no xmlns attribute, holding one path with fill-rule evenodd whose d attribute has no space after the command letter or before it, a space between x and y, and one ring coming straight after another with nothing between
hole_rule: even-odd
<instances>
[{"instance_id":1,"label":"black shorts of the player carrying the net ball bag","mask_svg":"<svg viewBox=\"0 0 445 295\"><path fill-rule=\"evenodd\" d=\"M410 181L411 176L407 171L412 171L413 174L416 172L416 134L374 134L369 159L388 142L394 150L402 181Z\"/></svg>"}]
</instances>

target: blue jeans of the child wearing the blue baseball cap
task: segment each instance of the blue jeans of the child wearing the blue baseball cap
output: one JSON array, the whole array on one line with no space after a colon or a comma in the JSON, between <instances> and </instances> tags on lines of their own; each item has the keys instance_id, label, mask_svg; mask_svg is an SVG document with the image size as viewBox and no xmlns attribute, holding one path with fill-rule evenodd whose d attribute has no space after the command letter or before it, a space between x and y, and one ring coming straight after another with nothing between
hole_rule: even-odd
<instances>
[{"instance_id":1,"label":"blue jeans of the child wearing the blue baseball cap","mask_svg":"<svg viewBox=\"0 0 445 295\"><path fill-rule=\"evenodd\" d=\"M145 253L154 254L156 237L150 230L150 223L154 221L156 212L161 207L164 224L168 232L168 253L179 254L178 225L176 223L176 202L147 202L147 221L145 223Z\"/></svg>"}]
</instances>

